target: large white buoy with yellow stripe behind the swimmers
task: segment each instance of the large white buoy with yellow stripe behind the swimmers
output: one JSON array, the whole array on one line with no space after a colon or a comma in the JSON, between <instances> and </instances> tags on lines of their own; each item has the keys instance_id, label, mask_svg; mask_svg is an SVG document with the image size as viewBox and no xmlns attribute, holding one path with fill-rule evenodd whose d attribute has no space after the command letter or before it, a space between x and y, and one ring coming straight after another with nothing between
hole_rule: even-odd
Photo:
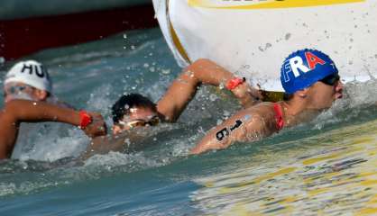
<instances>
[{"instance_id":1,"label":"large white buoy with yellow stripe behind the swimmers","mask_svg":"<svg viewBox=\"0 0 377 216\"><path fill-rule=\"evenodd\" d=\"M181 67L198 58L282 91L282 61L320 49L345 82L377 76L377 0L153 0Z\"/></svg>"}]
</instances>

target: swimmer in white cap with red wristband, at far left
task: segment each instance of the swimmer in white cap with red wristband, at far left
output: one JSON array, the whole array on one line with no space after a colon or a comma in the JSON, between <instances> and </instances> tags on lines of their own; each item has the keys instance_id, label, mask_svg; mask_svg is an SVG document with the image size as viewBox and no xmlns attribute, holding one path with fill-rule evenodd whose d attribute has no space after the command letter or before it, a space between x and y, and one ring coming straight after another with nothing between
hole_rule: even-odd
<instances>
[{"instance_id":1,"label":"swimmer in white cap with red wristband, at far left","mask_svg":"<svg viewBox=\"0 0 377 216\"><path fill-rule=\"evenodd\" d=\"M80 126L91 137L106 134L100 114L78 112L58 101L52 94L47 69L35 60L18 62L8 71L4 100L5 108L0 112L0 159L11 157L14 151L22 152L23 145L15 145L16 141L25 144L29 132L35 130L34 125L21 125L22 122L60 121ZM93 125L100 127L93 129Z\"/></svg>"}]
</instances>

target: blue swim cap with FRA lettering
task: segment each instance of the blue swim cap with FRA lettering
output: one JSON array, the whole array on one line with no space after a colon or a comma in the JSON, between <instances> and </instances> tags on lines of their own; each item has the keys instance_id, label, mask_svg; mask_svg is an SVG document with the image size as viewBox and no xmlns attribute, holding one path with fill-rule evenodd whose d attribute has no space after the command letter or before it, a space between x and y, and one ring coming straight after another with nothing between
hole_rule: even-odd
<instances>
[{"instance_id":1,"label":"blue swim cap with FRA lettering","mask_svg":"<svg viewBox=\"0 0 377 216\"><path fill-rule=\"evenodd\" d=\"M300 49L284 60L280 81L285 92L293 94L337 73L336 64L325 53L317 49Z\"/></svg>"}]
</instances>

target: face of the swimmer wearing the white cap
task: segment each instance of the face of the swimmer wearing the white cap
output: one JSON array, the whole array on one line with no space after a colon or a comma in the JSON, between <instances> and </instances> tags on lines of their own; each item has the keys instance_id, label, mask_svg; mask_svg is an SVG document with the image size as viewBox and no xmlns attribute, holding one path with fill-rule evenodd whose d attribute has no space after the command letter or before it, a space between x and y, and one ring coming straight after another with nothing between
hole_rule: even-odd
<instances>
[{"instance_id":1,"label":"face of the swimmer wearing the white cap","mask_svg":"<svg viewBox=\"0 0 377 216\"><path fill-rule=\"evenodd\" d=\"M4 86L4 102L8 103L14 99L30 101L45 101L48 97L46 91L37 89L30 85L14 82Z\"/></svg>"}]
</instances>

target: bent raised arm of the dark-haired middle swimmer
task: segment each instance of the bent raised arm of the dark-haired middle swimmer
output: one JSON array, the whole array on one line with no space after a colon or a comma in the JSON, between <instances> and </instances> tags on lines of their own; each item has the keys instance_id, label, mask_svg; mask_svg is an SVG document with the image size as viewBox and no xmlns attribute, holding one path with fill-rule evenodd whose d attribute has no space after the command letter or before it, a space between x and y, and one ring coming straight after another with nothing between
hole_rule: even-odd
<instances>
[{"instance_id":1,"label":"bent raised arm of the dark-haired middle swimmer","mask_svg":"<svg viewBox=\"0 0 377 216\"><path fill-rule=\"evenodd\" d=\"M164 115L166 121L176 121L197 93L199 85L226 85L234 78L235 76L231 72L218 66L215 62L208 59L198 59L185 68L182 74L174 80L168 91L157 103L157 109ZM235 85L231 91L244 107L258 103L258 99L262 97L258 90L252 88L246 82Z\"/></svg>"}]
</instances>

